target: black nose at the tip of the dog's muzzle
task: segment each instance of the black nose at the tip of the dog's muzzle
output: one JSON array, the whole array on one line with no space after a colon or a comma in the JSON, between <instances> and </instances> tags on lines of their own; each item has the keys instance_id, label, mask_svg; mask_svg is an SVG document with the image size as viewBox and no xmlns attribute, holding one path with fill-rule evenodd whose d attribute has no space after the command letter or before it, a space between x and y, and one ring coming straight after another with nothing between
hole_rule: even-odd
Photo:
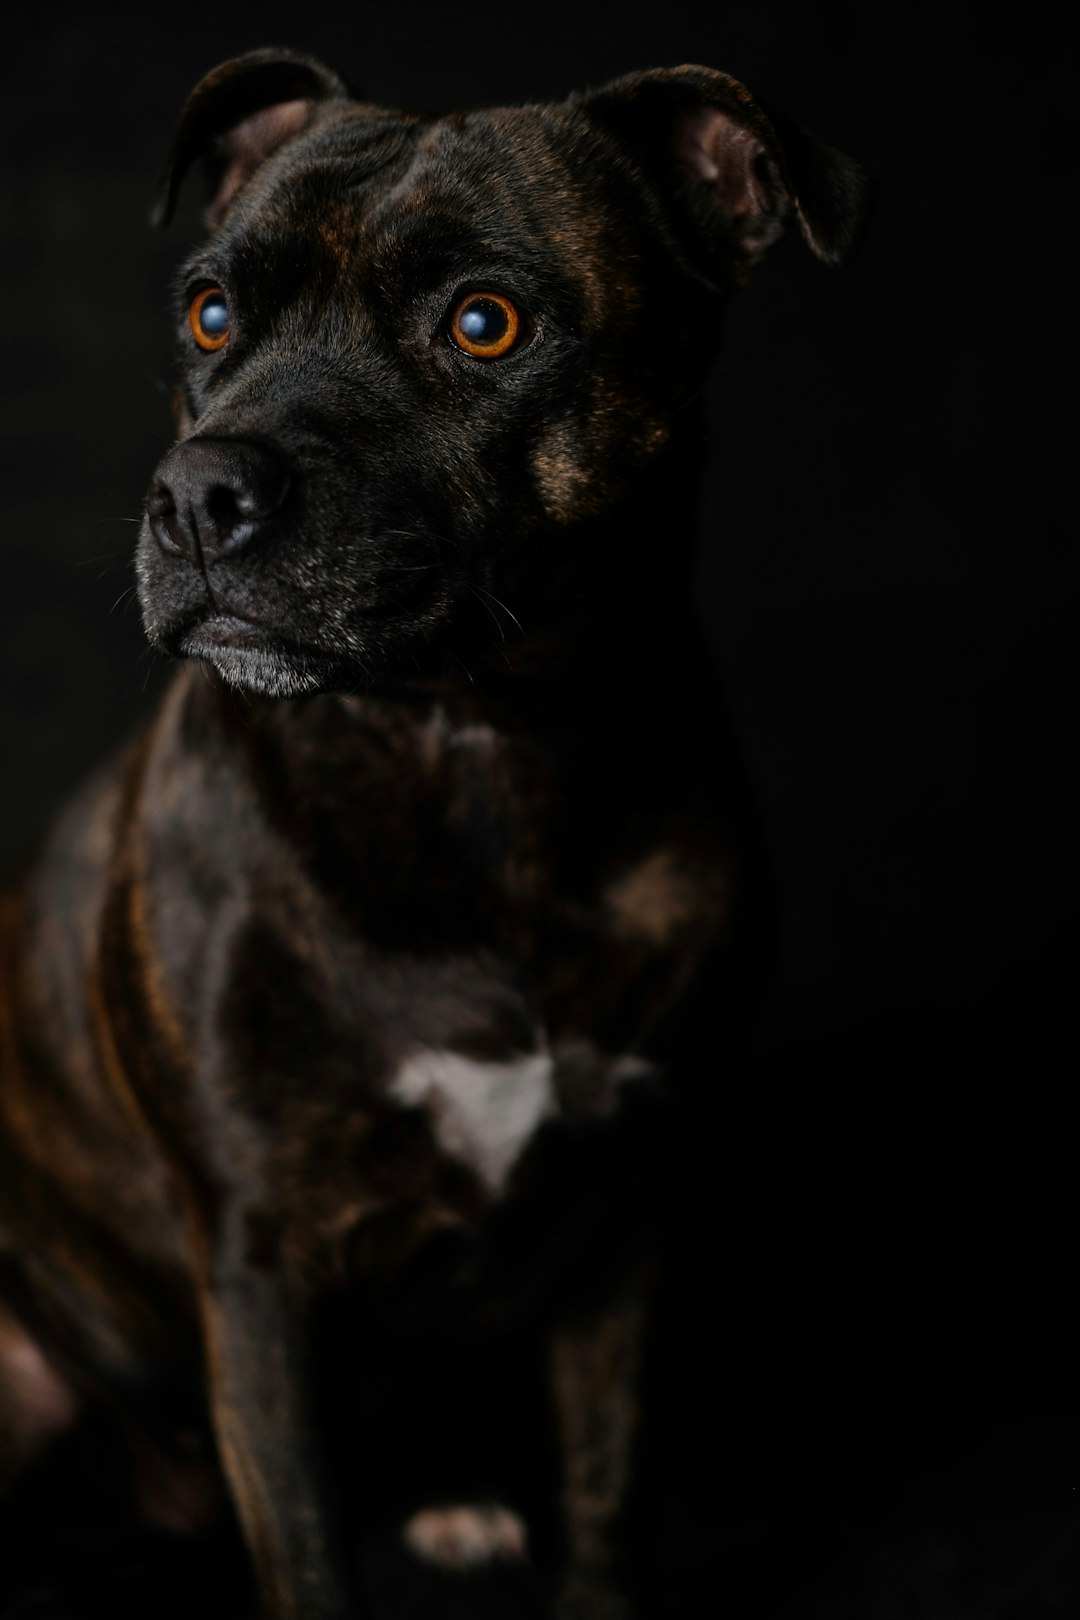
<instances>
[{"instance_id":1,"label":"black nose at the tip of the dog's muzzle","mask_svg":"<svg viewBox=\"0 0 1080 1620\"><path fill-rule=\"evenodd\" d=\"M288 468L241 439L185 439L154 473L146 514L170 557L214 562L266 530L288 494Z\"/></svg>"}]
</instances>

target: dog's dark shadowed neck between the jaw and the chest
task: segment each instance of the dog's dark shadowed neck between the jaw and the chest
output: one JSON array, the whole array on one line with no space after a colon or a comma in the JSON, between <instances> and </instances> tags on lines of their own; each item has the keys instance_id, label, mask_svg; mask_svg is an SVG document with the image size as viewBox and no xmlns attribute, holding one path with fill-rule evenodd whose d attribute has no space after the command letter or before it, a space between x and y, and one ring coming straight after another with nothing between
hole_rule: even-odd
<instances>
[{"instance_id":1,"label":"dog's dark shadowed neck between the jaw and the chest","mask_svg":"<svg viewBox=\"0 0 1080 1620\"><path fill-rule=\"evenodd\" d=\"M189 693L215 710L228 776L259 784L327 891L372 907L450 863L455 904L500 915L520 885L573 891L615 846L633 859L672 816L709 813L714 687L688 580L672 582L662 556L656 575L623 575L622 590L507 643L471 679L285 700L194 676ZM387 904L389 933L393 915Z\"/></svg>"}]
</instances>

